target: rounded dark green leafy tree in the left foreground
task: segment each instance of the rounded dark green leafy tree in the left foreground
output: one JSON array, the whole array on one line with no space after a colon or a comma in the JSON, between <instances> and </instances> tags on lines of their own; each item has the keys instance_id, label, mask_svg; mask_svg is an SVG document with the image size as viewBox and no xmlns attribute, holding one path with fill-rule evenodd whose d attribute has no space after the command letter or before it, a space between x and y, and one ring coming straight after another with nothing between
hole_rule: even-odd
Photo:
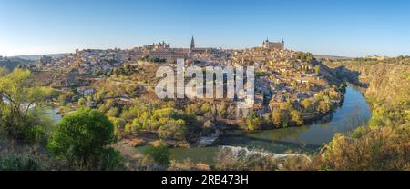
<instances>
[{"instance_id":1,"label":"rounded dark green leafy tree in the left foreground","mask_svg":"<svg viewBox=\"0 0 410 189\"><path fill-rule=\"evenodd\" d=\"M48 149L58 158L95 169L115 139L114 125L106 115L82 108L56 125Z\"/></svg>"}]
</instances>

